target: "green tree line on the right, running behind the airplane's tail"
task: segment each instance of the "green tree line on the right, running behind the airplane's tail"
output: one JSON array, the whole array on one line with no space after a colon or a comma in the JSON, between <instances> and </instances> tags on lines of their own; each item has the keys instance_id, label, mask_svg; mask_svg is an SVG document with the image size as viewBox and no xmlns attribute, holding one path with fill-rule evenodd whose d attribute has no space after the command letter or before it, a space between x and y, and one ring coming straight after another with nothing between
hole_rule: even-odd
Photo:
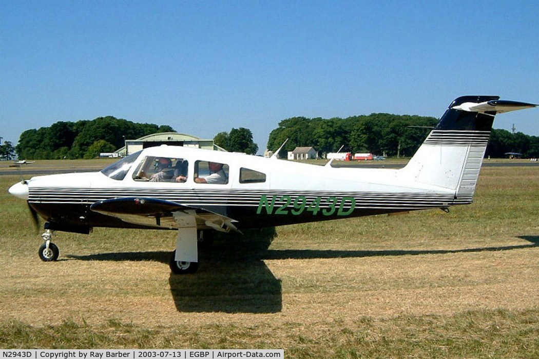
<instances>
[{"instance_id":1,"label":"green tree line on the right, running behind the airplane's tail","mask_svg":"<svg viewBox=\"0 0 539 359\"><path fill-rule=\"evenodd\" d=\"M269 134L267 148L286 158L295 147L313 146L320 156L336 152L367 152L411 157L436 126L438 119L425 116L370 114L348 118L292 117L279 122ZM493 129L485 156L506 157L507 152L539 157L539 137Z\"/></svg>"}]
</instances>

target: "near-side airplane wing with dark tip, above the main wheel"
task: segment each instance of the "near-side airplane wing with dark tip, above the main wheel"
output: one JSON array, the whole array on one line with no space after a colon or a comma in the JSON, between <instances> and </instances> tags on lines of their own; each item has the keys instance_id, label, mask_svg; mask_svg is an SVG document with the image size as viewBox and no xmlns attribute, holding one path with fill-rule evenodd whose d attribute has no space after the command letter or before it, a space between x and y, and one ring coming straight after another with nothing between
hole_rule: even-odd
<instances>
[{"instance_id":1,"label":"near-side airplane wing with dark tip, above the main wheel","mask_svg":"<svg viewBox=\"0 0 539 359\"><path fill-rule=\"evenodd\" d=\"M198 229L216 229L223 232L239 230L224 215L203 208L184 206L176 202L155 198L122 197L93 203L94 212L113 216L124 222L155 228L182 228L185 216L195 217Z\"/></svg>"}]
</instances>

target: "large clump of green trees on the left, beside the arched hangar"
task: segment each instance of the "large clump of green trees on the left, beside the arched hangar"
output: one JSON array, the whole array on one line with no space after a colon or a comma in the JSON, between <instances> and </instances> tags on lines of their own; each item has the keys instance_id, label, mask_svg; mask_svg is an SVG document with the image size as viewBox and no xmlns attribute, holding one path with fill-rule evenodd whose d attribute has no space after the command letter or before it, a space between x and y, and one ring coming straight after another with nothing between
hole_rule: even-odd
<instances>
[{"instance_id":1,"label":"large clump of green trees on the left, beside the arched hangar","mask_svg":"<svg viewBox=\"0 0 539 359\"><path fill-rule=\"evenodd\" d=\"M91 121L56 122L49 127L24 131L15 146L20 159L95 158L114 152L126 139L158 132L175 132L168 125L134 123L113 116Z\"/></svg>"}]
</instances>

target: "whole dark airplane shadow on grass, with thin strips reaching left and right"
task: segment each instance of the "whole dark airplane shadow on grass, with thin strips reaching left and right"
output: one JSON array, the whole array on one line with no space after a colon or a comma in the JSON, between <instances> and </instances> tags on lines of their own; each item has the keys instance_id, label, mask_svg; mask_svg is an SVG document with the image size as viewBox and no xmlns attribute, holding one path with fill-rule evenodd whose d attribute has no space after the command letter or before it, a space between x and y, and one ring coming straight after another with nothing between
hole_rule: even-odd
<instances>
[{"instance_id":1,"label":"whole dark airplane shadow on grass, with thin strips reaching left and right","mask_svg":"<svg viewBox=\"0 0 539 359\"><path fill-rule=\"evenodd\" d=\"M214 246L201 251L203 264L195 275L169 277L178 312L277 313L282 309L281 280L266 259L361 258L505 251L539 247L539 236L519 236L528 244L455 250L274 250L268 249L275 229L246 231L245 236L217 236ZM116 252L68 256L79 261L157 261L168 263L170 252Z\"/></svg>"}]
</instances>

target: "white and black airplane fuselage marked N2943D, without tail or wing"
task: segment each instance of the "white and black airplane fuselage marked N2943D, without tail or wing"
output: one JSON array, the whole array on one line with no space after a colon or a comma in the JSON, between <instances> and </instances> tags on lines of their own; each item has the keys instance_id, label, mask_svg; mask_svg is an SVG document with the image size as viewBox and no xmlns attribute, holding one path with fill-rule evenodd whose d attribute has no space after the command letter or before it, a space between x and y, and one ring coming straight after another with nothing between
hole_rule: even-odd
<instances>
[{"instance_id":1,"label":"white and black airplane fuselage marked N2943D, without tail or wing","mask_svg":"<svg viewBox=\"0 0 539 359\"><path fill-rule=\"evenodd\" d=\"M186 181L150 182L137 178L141 163L157 157L182 159L191 164ZM226 184L193 180L194 164L210 160L227 166ZM120 180L103 172L35 177L29 181L28 202L51 223L52 229L82 232L92 227L177 228L172 221L160 225L151 220L145 224L133 223L91 209L96 202L123 197L154 198L208 210L237 220L238 228L446 208L471 202L471 198L455 196L454 190L419 187L400 176L401 171L333 168L238 153L160 146L140 153ZM245 172L253 178L244 178Z\"/></svg>"}]
</instances>

